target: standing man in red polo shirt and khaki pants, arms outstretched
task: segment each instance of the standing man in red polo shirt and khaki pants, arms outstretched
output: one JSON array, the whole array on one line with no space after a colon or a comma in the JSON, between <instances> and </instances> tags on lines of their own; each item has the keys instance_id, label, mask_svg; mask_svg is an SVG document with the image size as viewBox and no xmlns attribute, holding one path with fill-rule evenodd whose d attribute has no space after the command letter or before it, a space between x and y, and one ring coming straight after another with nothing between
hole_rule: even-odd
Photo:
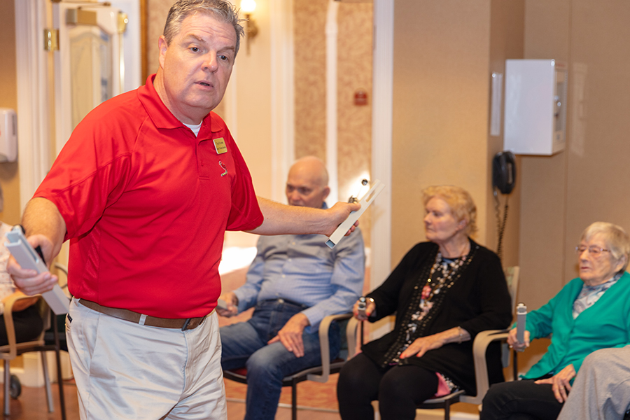
<instances>
[{"instance_id":1,"label":"standing man in red polo shirt and khaki pants, arms outstretched","mask_svg":"<svg viewBox=\"0 0 630 420\"><path fill-rule=\"evenodd\" d=\"M146 85L76 127L25 209L50 262L70 240L67 339L82 419L223 419L214 308L225 230L330 235L329 211L255 196L221 101L242 28L225 0L180 0ZM57 283L15 260L27 294Z\"/></svg>"}]
</instances>

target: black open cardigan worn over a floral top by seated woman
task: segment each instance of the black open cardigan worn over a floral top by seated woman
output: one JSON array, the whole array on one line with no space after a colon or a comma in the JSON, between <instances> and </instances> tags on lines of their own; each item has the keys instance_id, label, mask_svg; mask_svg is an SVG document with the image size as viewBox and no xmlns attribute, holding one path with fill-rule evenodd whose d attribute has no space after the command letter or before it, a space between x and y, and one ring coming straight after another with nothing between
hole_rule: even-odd
<instances>
[{"instance_id":1,"label":"black open cardigan worn over a floral top by seated woman","mask_svg":"<svg viewBox=\"0 0 630 420\"><path fill-rule=\"evenodd\" d=\"M444 344L439 349L430 350L424 356L408 358L408 363L426 367L428 370L440 372L466 393L474 395L475 366L472 358L472 340L478 332L507 328L512 321L510 293L501 268L498 256L483 246L470 240L471 254L474 255L461 277L454 283L444 297L440 309L426 326L425 336L437 334L460 326L470 333L472 338L461 344ZM426 279L419 279L426 267L433 265L437 255L437 244L421 242L416 244L402 258L402 261L391 272L386 281L367 295L374 299L376 314L370 322L398 311L409 309L414 286L420 288ZM384 354L395 342L398 331L402 328L402 316L396 316L394 330L363 345L363 353L374 360L377 365L384 362ZM490 383L503 381L503 369L500 360L500 344L491 344L486 353Z\"/></svg>"}]
</instances>

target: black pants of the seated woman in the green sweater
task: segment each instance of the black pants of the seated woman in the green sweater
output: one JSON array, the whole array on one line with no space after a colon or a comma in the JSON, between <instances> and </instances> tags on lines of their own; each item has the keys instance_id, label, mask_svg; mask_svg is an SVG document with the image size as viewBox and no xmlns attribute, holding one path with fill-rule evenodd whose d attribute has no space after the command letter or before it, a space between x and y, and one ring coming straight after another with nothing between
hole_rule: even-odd
<instances>
[{"instance_id":1,"label":"black pants of the seated woman in the green sweater","mask_svg":"<svg viewBox=\"0 0 630 420\"><path fill-rule=\"evenodd\" d=\"M484 397L480 420L555 420L562 404L551 384L535 379L503 382L490 387Z\"/></svg>"}]
</instances>

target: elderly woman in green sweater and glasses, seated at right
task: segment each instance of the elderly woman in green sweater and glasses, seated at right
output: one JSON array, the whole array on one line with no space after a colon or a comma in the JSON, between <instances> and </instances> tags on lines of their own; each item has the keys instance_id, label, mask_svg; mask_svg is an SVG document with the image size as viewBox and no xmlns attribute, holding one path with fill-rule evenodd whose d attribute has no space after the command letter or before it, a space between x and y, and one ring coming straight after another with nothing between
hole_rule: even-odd
<instances>
[{"instance_id":1,"label":"elderly woman in green sweater and glasses, seated at right","mask_svg":"<svg viewBox=\"0 0 630 420\"><path fill-rule=\"evenodd\" d=\"M523 380L490 388L481 420L556 419L584 358L629 344L628 234L612 223L596 222L584 230L575 250L580 277L527 314L524 343L517 341L516 328L507 339L515 349L524 349L530 339L552 334L547 353Z\"/></svg>"}]
</instances>

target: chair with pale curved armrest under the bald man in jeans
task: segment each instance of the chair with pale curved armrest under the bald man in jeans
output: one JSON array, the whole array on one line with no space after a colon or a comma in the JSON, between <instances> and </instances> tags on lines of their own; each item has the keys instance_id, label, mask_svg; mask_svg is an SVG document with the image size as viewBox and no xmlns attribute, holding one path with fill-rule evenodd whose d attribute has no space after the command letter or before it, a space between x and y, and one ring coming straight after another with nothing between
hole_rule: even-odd
<instances>
[{"instance_id":1,"label":"chair with pale curved armrest under the bald man in jeans","mask_svg":"<svg viewBox=\"0 0 630 420\"><path fill-rule=\"evenodd\" d=\"M345 340L342 339L342 350L339 357L330 360L330 346L328 343L328 329L333 321L337 321L340 325L345 324ZM352 314L330 315L323 318L319 324L319 345L321 351L321 365L309 367L308 369L295 372L282 380L282 386L291 387L291 419L297 420L297 384L302 381L316 381L325 383L328 381L330 374L337 373L347 360L352 358L356 353L356 318ZM247 383L247 368L241 367L235 370L224 370L223 377L232 381Z\"/></svg>"}]
</instances>

